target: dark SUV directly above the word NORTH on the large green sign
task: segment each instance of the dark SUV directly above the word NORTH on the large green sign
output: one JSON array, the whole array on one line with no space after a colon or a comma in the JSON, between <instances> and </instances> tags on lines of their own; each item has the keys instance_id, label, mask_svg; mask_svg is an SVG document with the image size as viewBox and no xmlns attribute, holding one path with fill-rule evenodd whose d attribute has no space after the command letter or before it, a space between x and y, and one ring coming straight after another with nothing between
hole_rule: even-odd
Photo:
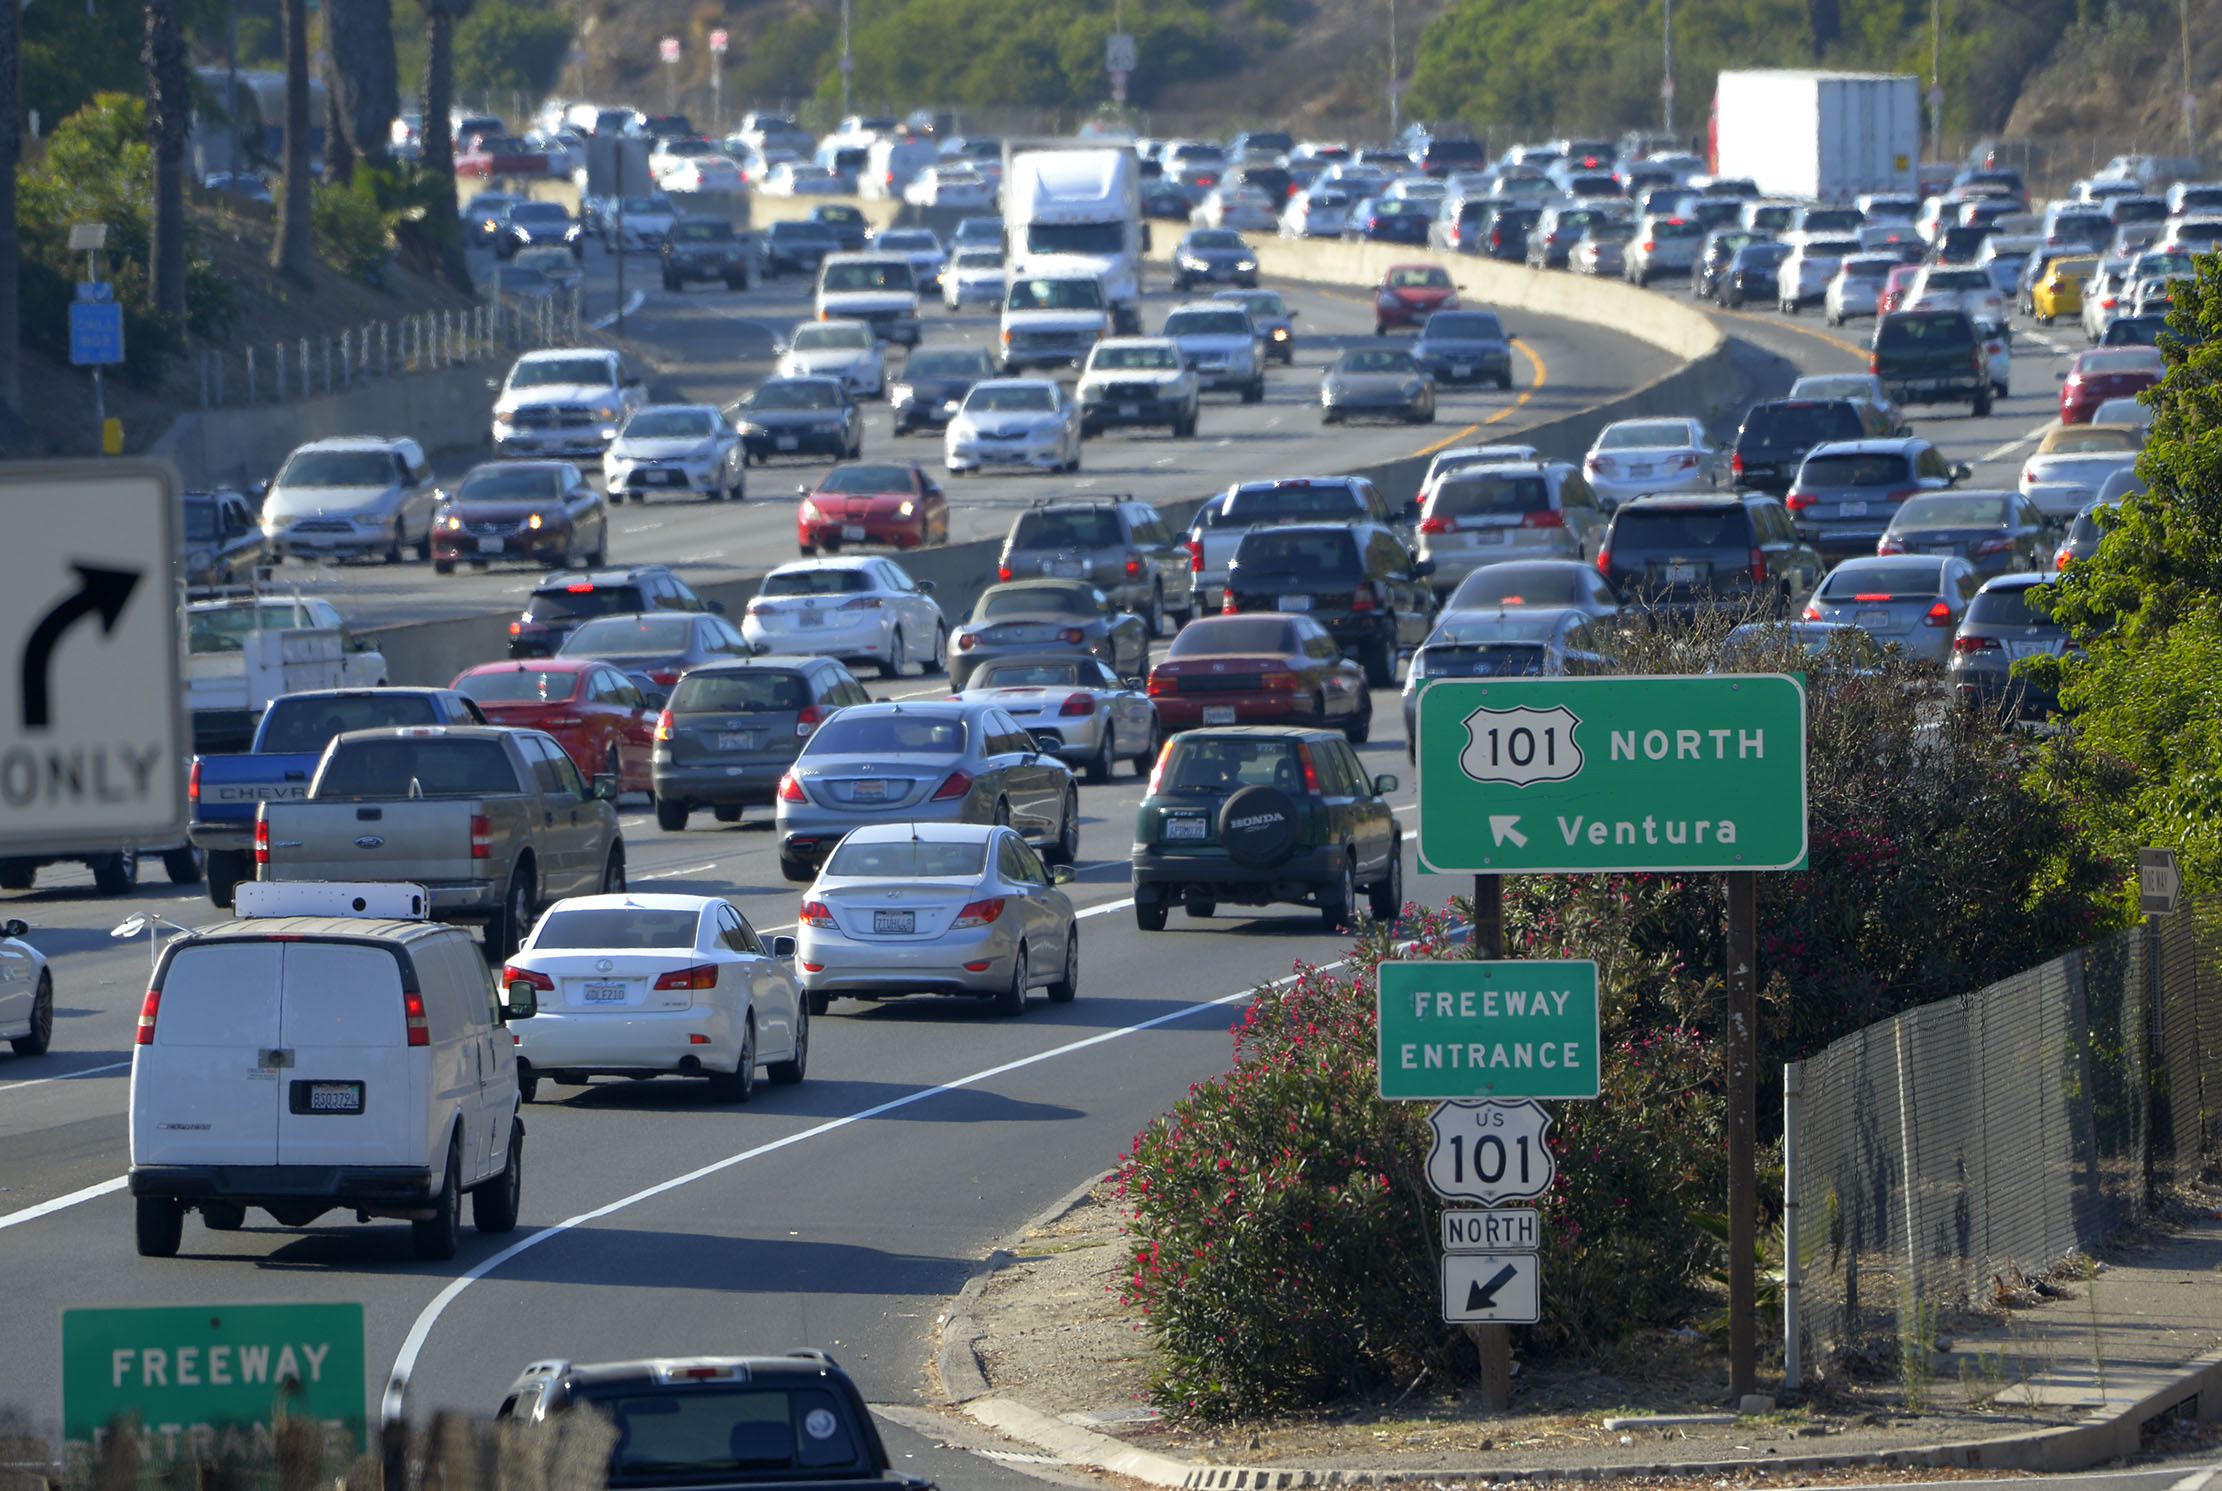
<instances>
[{"instance_id":1,"label":"dark SUV directly above the word NORTH on the large green sign","mask_svg":"<svg viewBox=\"0 0 2222 1491\"><path fill-rule=\"evenodd\" d=\"M1598 551L1620 598L1653 613L1731 607L1782 618L1824 569L1782 502L1758 491L1622 502Z\"/></svg>"}]
</instances>

